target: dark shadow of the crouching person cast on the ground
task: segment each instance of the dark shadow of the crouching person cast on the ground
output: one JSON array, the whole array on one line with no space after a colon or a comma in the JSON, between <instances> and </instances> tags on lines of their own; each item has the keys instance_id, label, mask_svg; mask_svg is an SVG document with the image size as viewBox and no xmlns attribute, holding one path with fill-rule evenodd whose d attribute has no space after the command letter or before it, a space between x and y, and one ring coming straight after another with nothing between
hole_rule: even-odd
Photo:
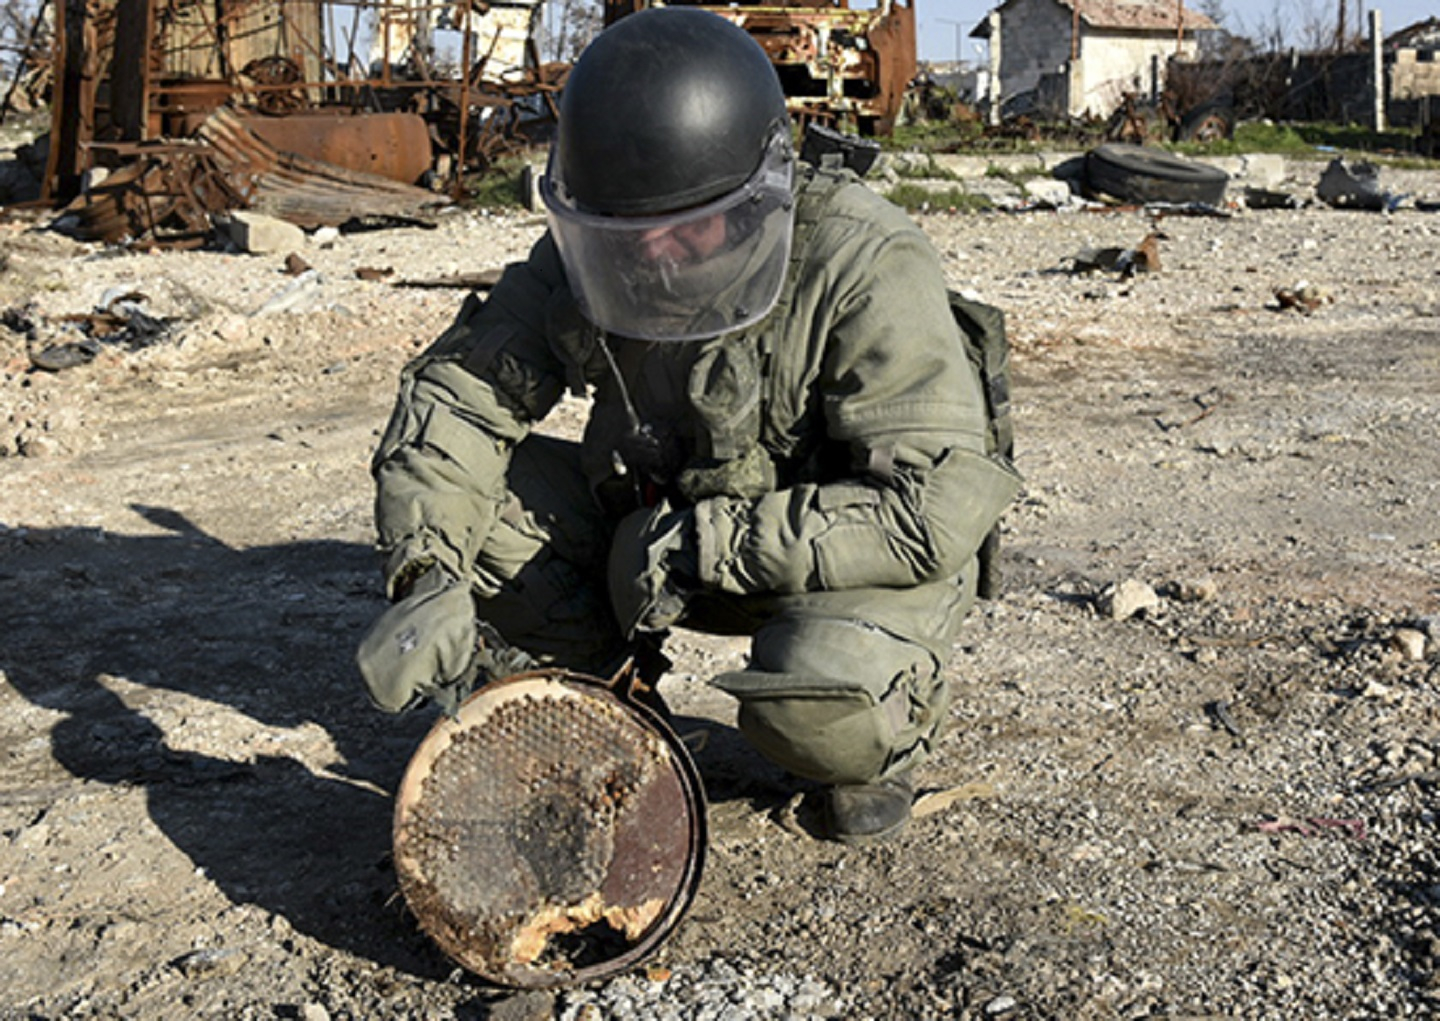
<instances>
[{"instance_id":1,"label":"dark shadow of the crouching person cast on the ground","mask_svg":"<svg viewBox=\"0 0 1440 1021\"><path fill-rule=\"evenodd\" d=\"M174 511L135 511L166 531L0 533L0 670L65 714L55 760L143 786L156 825L233 901L330 948L448 975L389 861L389 792L433 713L379 713L353 667L383 606L373 552L232 549ZM177 710L156 690L215 704ZM192 733L181 710L204 724Z\"/></svg>"}]
</instances>

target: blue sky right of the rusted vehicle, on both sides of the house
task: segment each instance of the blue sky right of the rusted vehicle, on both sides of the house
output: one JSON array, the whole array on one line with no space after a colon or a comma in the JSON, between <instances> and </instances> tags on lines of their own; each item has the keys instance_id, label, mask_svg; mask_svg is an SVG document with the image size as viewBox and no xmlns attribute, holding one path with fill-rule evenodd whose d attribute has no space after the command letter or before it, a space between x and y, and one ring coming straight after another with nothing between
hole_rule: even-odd
<instances>
[{"instance_id":1,"label":"blue sky right of the rusted vehicle, on both sides of the house","mask_svg":"<svg viewBox=\"0 0 1440 1021\"><path fill-rule=\"evenodd\" d=\"M914 0L914 6L922 60L953 60L956 45L966 60L982 59L984 43L969 35L988 12L999 6L999 0ZM1187 6L1198 9L1201 4L1198 0L1187 0ZM1335 0L1223 0L1221 7L1225 12L1221 26L1241 36L1260 35L1263 24L1274 24L1277 20L1282 24L1313 22L1316 14L1325 16L1328 20L1323 23L1329 24L1339 12ZM1345 7L1349 19L1358 10L1378 9L1385 35L1427 17L1440 17L1440 0L1348 0Z\"/></svg>"}]
</instances>

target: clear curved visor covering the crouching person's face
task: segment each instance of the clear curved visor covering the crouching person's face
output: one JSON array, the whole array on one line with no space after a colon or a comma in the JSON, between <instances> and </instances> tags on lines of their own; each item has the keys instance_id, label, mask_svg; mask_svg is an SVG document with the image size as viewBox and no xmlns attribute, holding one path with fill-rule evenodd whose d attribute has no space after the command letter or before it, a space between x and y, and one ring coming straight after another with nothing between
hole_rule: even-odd
<instances>
[{"instance_id":1,"label":"clear curved visor covering the crouching person's face","mask_svg":"<svg viewBox=\"0 0 1440 1021\"><path fill-rule=\"evenodd\" d=\"M660 216L577 209L554 151L540 180L570 288L596 325L642 340L740 330L775 305L791 255L795 163L776 135L750 179L704 206Z\"/></svg>"}]
</instances>

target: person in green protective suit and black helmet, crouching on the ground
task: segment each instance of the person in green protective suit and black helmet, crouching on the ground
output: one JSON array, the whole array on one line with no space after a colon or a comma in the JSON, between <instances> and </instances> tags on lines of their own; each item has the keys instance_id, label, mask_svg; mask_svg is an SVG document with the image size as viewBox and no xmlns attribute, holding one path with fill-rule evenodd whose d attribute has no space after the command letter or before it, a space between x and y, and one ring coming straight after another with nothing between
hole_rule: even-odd
<instances>
[{"instance_id":1,"label":"person in green protective suit and black helmet, crouching on the ground","mask_svg":"<svg viewBox=\"0 0 1440 1021\"><path fill-rule=\"evenodd\" d=\"M765 52L696 9L586 48L541 193L549 230L406 367L374 455L373 700L747 634L713 683L749 742L825 785L834 838L897 832L1018 488L933 248L796 161ZM566 387L582 441L531 433Z\"/></svg>"}]
</instances>

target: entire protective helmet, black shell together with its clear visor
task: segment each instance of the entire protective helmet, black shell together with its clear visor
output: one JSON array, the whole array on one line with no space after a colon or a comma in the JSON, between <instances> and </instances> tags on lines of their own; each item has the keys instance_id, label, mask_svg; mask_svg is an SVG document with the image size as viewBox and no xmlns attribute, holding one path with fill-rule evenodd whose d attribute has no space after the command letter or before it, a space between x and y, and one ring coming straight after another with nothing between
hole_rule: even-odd
<instances>
[{"instance_id":1,"label":"entire protective helmet, black shell together with its clear visor","mask_svg":"<svg viewBox=\"0 0 1440 1021\"><path fill-rule=\"evenodd\" d=\"M566 82L541 180L580 308L628 337L693 340L759 321L789 259L785 94L717 14L629 14Z\"/></svg>"}]
</instances>

